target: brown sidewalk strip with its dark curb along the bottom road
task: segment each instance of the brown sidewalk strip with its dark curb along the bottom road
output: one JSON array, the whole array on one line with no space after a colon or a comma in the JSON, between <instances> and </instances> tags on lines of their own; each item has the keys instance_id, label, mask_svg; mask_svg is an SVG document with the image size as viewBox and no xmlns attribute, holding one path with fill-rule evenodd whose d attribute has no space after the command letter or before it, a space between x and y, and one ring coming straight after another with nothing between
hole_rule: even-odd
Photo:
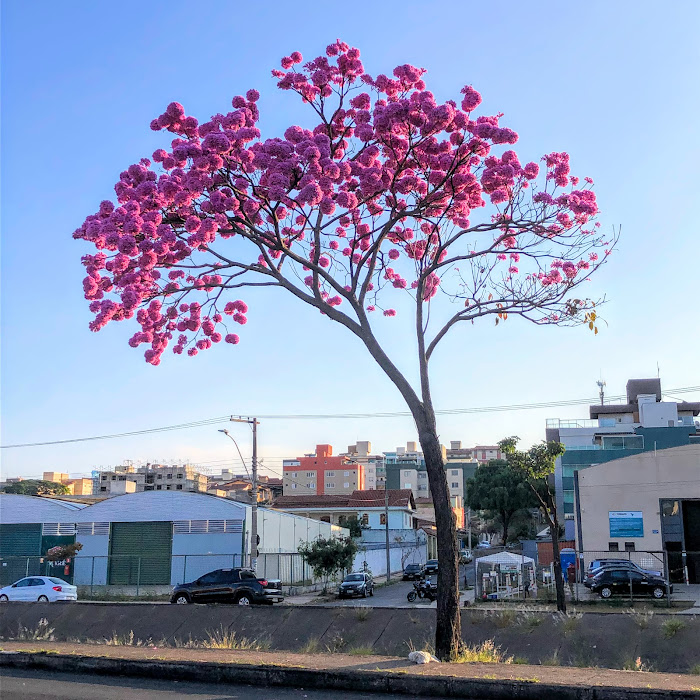
<instances>
[{"instance_id":1,"label":"brown sidewalk strip with its dark curb along the bottom road","mask_svg":"<svg viewBox=\"0 0 700 700\"><path fill-rule=\"evenodd\" d=\"M427 664L387 656L4 642L0 666L71 673L333 688L432 697L700 698L700 676L520 664Z\"/></svg>"}]
</instances>

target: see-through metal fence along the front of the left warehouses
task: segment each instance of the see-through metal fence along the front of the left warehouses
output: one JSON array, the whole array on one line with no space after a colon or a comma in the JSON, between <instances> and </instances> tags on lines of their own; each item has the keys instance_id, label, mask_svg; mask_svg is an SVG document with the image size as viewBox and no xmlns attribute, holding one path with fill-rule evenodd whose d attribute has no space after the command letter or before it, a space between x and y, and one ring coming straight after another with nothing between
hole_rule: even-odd
<instances>
[{"instance_id":1,"label":"see-through metal fence along the front of the left warehouses","mask_svg":"<svg viewBox=\"0 0 700 700\"><path fill-rule=\"evenodd\" d=\"M0 558L0 585L26 576L55 576L91 592L118 588L130 595L165 592L180 583L194 581L215 569L246 565L240 554L176 554L172 556L77 556L62 562L45 557ZM298 553L260 554L256 573L281 581L285 587L322 583Z\"/></svg>"}]
</instances>

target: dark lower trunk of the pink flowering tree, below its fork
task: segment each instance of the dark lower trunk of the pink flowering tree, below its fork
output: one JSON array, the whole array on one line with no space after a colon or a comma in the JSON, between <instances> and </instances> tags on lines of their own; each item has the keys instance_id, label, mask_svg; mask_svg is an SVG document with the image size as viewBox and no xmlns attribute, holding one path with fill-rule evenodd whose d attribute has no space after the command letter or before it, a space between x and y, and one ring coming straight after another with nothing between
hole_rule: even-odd
<instances>
[{"instance_id":1,"label":"dark lower trunk of the pink flowering tree, below its fork","mask_svg":"<svg viewBox=\"0 0 700 700\"><path fill-rule=\"evenodd\" d=\"M435 655L443 661L449 661L457 656L462 645L455 517L435 423L425 415L415 418L435 507L437 529L438 598Z\"/></svg>"}]
</instances>

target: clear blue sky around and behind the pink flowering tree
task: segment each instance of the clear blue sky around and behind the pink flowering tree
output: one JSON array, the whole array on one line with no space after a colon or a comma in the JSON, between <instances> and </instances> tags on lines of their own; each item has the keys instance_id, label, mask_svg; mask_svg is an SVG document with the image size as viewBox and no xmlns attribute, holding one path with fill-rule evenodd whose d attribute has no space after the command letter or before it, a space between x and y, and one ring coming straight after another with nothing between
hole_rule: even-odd
<instances>
[{"instance_id":1,"label":"clear blue sky around and behind the pink flowering tree","mask_svg":"<svg viewBox=\"0 0 700 700\"><path fill-rule=\"evenodd\" d=\"M366 69L428 69L439 99L473 84L484 110L505 113L522 162L566 150L596 183L600 221L622 228L597 276L609 299L597 337L582 329L489 321L453 333L433 360L438 408L585 398L603 377L611 394L630 377L667 388L700 384L695 207L700 162L700 4L654 2L121 3L7 0L2 5L2 444L61 440L229 413L405 410L393 385L347 332L274 293L251 311L234 347L164 356L159 367L127 346L133 325L93 334L71 234L113 197L119 172L165 146L150 120L171 101L202 119L233 95L262 93L263 136L307 125L269 71L336 37ZM408 319L404 319L408 322ZM391 325L395 324L395 325ZM383 337L411 369L401 319ZM700 395L685 395L700 399ZM544 437L547 417L585 406L442 417L443 441L488 444ZM78 474L124 459L189 459L236 466L217 426L2 451L2 474ZM220 426L223 427L223 426ZM244 427L234 429L244 453ZM377 450L415 440L408 418L269 420L261 456L328 442Z\"/></svg>"}]
</instances>

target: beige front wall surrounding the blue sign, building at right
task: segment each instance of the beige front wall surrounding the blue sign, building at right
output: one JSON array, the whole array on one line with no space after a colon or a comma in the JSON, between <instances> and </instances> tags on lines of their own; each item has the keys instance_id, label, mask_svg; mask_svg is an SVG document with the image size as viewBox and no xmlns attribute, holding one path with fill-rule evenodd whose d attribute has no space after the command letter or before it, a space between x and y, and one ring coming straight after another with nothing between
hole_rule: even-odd
<instances>
[{"instance_id":1,"label":"beige front wall surrounding the blue sign, building at right","mask_svg":"<svg viewBox=\"0 0 700 700\"><path fill-rule=\"evenodd\" d=\"M643 452L579 472L583 549L607 551L633 541L637 551L660 551L660 498L700 498L700 444ZM642 511L644 537L611 538L610 511Z\"/></svg>"}]
</instances>

